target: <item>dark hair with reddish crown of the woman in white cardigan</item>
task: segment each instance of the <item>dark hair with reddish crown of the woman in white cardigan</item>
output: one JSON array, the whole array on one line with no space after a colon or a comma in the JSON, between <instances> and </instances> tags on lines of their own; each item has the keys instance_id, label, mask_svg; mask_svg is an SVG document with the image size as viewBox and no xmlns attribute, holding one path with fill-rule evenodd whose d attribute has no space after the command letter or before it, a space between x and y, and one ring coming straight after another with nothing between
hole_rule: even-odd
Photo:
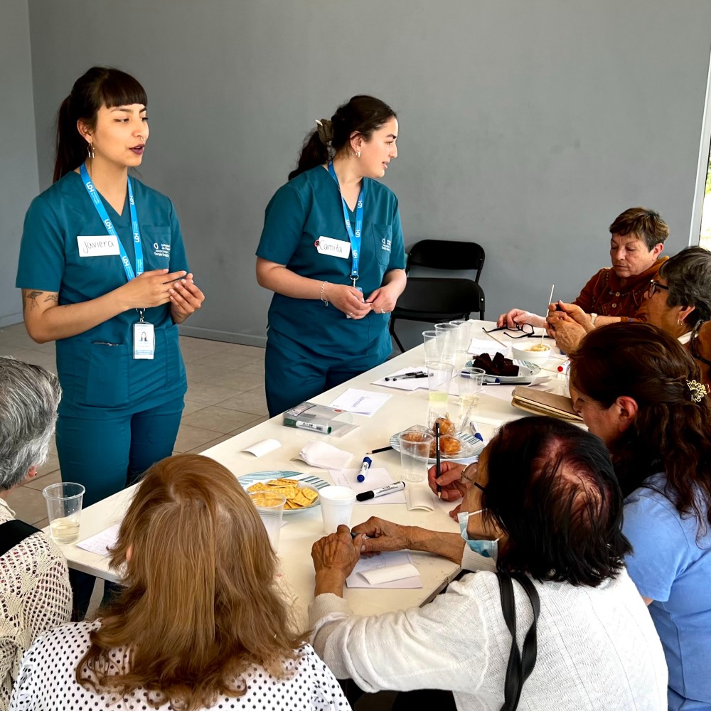
<instances>
[{"instance_id":1,"label":"dark hair with reddish crown of the woman in white cardigan","mask_svg":"<svg viewBox=\"0 0 711 711\"><path fill-rule=\"evenodd\" d=\"M631 546L599 437L560 419L524 417L504 424L487 454L482 506L508 535L498 570L590 587L616 577Z\"/></svg>"}]
</instances>

